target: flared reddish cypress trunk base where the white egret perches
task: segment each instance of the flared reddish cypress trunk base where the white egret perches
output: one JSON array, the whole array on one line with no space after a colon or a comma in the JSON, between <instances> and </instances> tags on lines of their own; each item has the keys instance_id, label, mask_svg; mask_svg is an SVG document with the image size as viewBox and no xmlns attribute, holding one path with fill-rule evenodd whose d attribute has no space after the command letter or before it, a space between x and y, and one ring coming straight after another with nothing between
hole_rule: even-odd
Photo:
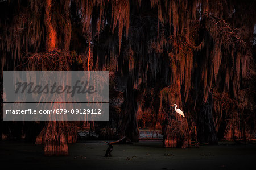
<instances>
[{"instance_id":1,"label":"flared reddish cypress trunk base where the white egret perches","mask_svg":"<svg viewBox=\"0 0 256 170\"><path fill-rule=\"evenodd\" d=\"M171 106L177 103L182 110L181 97L177 87L179 88L179 83L163 88L160 92L159 114L163 114L165 117L163 123L164 147L187 148L190 143L187 114L182 117Z\"/></svg>"}]
</instances>

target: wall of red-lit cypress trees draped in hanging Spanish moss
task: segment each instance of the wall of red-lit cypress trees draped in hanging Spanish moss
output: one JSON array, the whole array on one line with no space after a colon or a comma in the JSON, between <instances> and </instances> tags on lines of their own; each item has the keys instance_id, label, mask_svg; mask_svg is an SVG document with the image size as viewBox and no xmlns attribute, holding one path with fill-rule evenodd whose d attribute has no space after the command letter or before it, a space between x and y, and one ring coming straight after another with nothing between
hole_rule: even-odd
<instances>
[{"instance_id":1,"label":"wall of red-lit cypress trees draped in hanging Spanish moss","mask_svg":"<svg viewBox=\"0 0 256 170\"><path fill-rule=\"evenodd\" d=\"M110 72L110 121L46 123L34 136L46 155L67 155L67 143L76 142L73 126L80 124L101 138L133 142L139 128L161 129L164 147L254 138L253 1L0 4L2 71Z\"/></svg>"}]
</instances>

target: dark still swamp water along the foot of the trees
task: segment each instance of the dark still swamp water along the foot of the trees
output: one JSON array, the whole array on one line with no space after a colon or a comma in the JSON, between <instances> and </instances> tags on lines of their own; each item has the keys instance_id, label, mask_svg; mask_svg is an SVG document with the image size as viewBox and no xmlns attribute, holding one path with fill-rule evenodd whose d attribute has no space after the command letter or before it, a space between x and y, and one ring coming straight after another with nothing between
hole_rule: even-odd
<instances>
[{"instance_id":1,"label":"dark still swamp water along the foot of the trees","mask_svg":"<svg viewBox=\"0 0 256 170\"><path fill-rule=\"evenodd\" d=\"M163 148L160 140L114 145L113 157L104 157L102 141L69 145L69 156L43 155L43 146L0 143L1 167L17 169L255 169L256 144L221 143L200 148ZM2 168L1 168L2 169Z\"/></svg>"}]
</instances>

